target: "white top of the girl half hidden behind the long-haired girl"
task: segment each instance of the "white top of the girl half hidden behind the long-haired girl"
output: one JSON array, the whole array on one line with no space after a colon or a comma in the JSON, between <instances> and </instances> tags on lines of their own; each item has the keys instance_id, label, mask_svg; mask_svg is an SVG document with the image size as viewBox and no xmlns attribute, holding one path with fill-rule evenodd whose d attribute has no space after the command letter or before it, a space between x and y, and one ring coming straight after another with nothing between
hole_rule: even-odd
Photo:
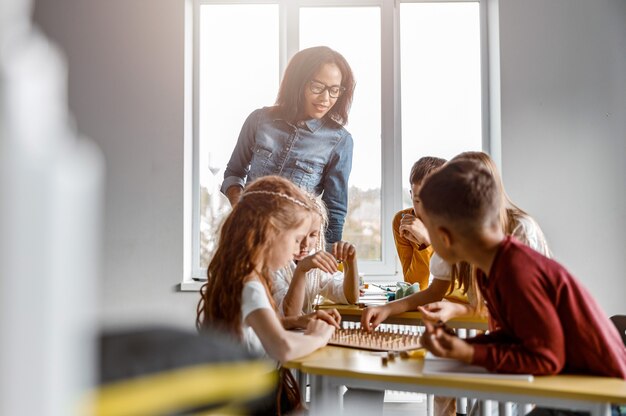
<instances>
[{"instance_id":1,"label":"white top of the girl half hidden behind the long-haired girl","mask_svg":"<svg viewBox=\"0 0 626 416\"><path fill-rule=\"evenodd\" d=\"M274 273L272 297L281 315L284 315L283 302L285 296L287 296L287 291L289 291L289 285L291 284L295 270L296 263L292 261L287 266ZM347 304L348 299L346 299L346 294L343 291L343 279L344 274L342 272L330 274L319 269L309 270L306 274L306 289L302 312L313 312L312 301L315 300L318 294L331 302Z\"/></svg>"}]
</instances>

